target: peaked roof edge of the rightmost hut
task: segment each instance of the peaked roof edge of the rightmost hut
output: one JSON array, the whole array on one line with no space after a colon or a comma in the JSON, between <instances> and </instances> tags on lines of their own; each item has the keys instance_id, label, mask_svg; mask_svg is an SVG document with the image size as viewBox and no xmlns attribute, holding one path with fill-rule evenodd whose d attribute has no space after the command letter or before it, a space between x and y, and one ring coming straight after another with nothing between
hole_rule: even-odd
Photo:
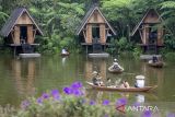
<instances>
[{"instance_id":1,"label":"peaked roof edge of the rightmost hut","mask_svg":"<svg viewBox=\"0 0 175 117\"><path fill-rule=\"evenodd\" d=\"M133 35L136 34L136 32L139 30L140 25L143 23L144 19L148 16L148 14L149 14L150 12L155 12L156 15L159 16L160 21L161 21L161 22L163 21L162 17L161 17L161 15L158 13L158 11L156 11L155 9L149 9L149 10L147 11L147 13L144 14L144 16L142 17L142 20L135 26L135 28L133 28L133 31L132 31L132 33L131 33L131 36L133 36Z\"/></svg>"}]
</instances>

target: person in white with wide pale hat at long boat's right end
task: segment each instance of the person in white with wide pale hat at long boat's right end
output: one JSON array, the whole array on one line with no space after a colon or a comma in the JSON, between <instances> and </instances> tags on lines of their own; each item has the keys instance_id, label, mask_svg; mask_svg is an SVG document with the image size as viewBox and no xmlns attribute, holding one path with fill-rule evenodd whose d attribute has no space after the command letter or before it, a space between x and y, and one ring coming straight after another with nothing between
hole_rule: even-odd
<instances>
[{"instance_id":1,"label":"person in white with wide pale hat at long boat's right end","mask_svg":"<svg viewBox=\"0 0 175 117\"><path fill-rule=\"evenodd\" d=\"M144 75L137 75L135 87L144 87Z\"/></svg>"}]
</instances>

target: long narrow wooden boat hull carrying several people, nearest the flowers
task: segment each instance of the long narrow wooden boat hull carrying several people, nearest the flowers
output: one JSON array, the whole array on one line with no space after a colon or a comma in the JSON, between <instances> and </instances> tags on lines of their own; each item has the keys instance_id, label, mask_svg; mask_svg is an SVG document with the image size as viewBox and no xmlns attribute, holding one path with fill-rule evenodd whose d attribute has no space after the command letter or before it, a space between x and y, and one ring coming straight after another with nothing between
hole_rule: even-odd
<instances>
[{"instance_id":1,"label":"long narrow wooden boat hull carrying several people, nearest the flowers","mask_svg":"<svg viewBox=\"0 0 175 117\"><path fill-rule=\"evenodd\" d=\"M130 86L129 89L126 87L116 87L116 86L98 86L98 85L94 85L91 82L86 82L90 86L92 86L92 89L95 90L101 90L101 91L118 91L118 92L148 92L150 90L153 90L155 87L158 87L158 85L154 86L144 86L144 87L135 87L135 86Z\"/></svg>"}]
</instances>

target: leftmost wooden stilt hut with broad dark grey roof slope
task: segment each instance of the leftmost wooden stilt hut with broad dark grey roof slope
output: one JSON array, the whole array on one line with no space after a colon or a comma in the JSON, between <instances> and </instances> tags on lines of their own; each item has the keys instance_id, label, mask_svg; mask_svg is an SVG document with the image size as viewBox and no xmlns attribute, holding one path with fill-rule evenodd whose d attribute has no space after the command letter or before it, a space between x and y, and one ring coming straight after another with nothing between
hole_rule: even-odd
<instances>
[{"instance_id":1,"label":"leftmost wooden stilt hut with broad dark grey roof slope","mask_svg":"<svg viewBox=\"0 0 175 117\"><path fill-rule=\"evenodd\" d=\"M34 52L34 46L39 45L35 44L35 35L43 35L26 8L15 9L0 33L5 45L13 48L14 55Z\"/></svg>"}]
</instances>

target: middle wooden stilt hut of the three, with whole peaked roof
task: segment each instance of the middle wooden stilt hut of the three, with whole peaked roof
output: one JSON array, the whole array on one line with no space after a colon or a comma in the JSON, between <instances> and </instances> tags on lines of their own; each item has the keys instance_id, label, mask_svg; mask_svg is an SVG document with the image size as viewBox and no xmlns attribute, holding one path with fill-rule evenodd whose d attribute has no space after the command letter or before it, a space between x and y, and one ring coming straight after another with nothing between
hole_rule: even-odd
<instances>
[{"instance_id":1,"label":"middle wooden stilt hut of the three, with whole peaked roof","mask_svg":"<svg viewBox=\"0 0 175 117\"><path fill-rule=\"evenodd\" d=\"M86 47L88 54L90 48L93 52L104 51L109 45L109 38L116 35L116 32L95 4L88 11L75 34L81 45Z\"/></svg>"}]
</instances>

